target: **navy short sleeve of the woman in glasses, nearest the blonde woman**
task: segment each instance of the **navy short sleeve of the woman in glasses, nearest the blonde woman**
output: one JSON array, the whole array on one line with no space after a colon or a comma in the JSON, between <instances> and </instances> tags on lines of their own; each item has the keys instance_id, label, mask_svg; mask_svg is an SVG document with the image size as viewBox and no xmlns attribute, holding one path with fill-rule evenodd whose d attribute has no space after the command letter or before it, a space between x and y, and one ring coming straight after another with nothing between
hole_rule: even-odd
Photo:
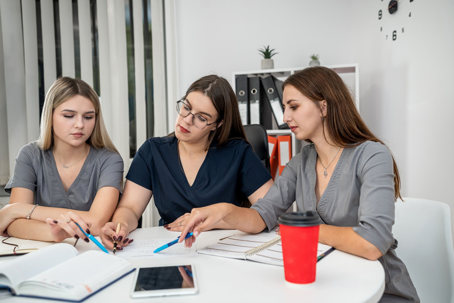
<instances>
[{"instance_id":1,"label":"navy short sleeve of the woman in glasses, nearest the blonde woman","mask_svg":"<svg viewBox=\"0 0 454 303\"><path fill-rule=\"evenodd\" d=\"M133 181L150 191L153 191L151 182L151 162L153 154L150 141L145 141L134 156L133 162L129 167L126 179Z\"/></svg>"}]
</instances>

